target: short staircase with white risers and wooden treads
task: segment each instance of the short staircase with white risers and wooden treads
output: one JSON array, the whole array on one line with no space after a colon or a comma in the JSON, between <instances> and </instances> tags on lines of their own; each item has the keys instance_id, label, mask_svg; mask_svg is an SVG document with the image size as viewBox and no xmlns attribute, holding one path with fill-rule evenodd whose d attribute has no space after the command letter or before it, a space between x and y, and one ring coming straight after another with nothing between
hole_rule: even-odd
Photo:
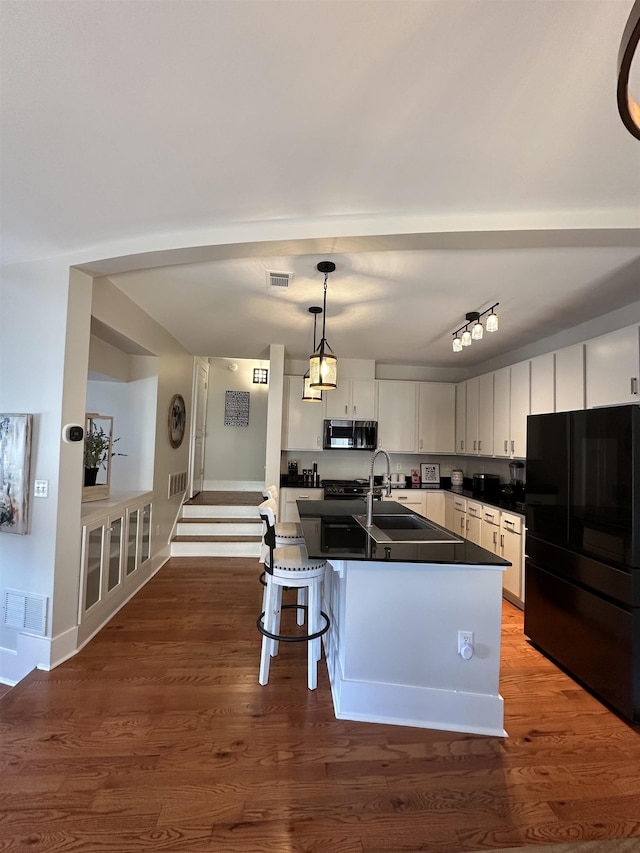
<instances>
[{"instance_id":1,"label":"short staircase with white risers and wooden treads","mask_svg":"<svg viewBox=\"0 0 640 853\"><path fill-rule=\"evenodd\" d=\"M172 557L258 557L260 492L200 492L183 504Z\"/></svg>"}]
</instances>

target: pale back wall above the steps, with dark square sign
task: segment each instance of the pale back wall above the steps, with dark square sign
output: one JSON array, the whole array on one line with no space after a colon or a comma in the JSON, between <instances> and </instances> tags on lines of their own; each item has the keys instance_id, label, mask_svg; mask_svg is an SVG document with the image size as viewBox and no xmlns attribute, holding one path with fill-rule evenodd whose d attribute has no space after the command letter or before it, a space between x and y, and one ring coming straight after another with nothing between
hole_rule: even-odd
<instances>
[{"instance_id":1,"label":"pale back wall above the steps, with dark square sign","mask_svg":"<svg viewBox=\"0 0 640 853\"><path fill-rule=\"evenodd\" d=\"M205 489L231 488L234 483L244 488L251 488L251 484L262 486L270 385L254 385L253 368L268 369L269 362L226 358L211 358L209 362ZM237 365L237 370L229 370L232 364ZM249 392L248 426L225 426L226 391Z\"/></svg>"}]
</instances>

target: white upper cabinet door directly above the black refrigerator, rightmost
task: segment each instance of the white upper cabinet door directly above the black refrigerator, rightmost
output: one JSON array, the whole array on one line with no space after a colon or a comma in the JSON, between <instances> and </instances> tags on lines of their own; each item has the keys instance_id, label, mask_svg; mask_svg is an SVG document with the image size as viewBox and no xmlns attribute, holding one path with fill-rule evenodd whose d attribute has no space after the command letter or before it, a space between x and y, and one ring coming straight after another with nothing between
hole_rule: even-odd
<instances>
[{"instance_id":1,"label":"white upper cabinet door directly above the black refrigerator, rightmost","mask_svg":"<svg viewBox=\"0 0 640 853\"><path fill-rule=\"evenodd\" d=\"M640 326L627 326L585 344L587 408L637 403Z\"/></svg>"}]
</instances>

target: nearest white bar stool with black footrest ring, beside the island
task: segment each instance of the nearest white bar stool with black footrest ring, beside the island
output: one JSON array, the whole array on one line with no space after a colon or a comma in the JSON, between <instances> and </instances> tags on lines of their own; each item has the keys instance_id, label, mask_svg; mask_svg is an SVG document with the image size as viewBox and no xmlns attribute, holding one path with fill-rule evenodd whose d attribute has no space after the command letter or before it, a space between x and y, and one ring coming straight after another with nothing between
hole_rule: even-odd
<instances>
[{"instance_id":1,"label":"nearest white bar stool with black footrest ring, beside the island","mask_svg":"<svg viewBox=\"0 0 640 853\"><path fill-rule=\"evenodd\" d=\"M271 658L278 653L278 642L308 644L307 652L307 686L315 690L318 684L318 661L322 654L320 637L329 629L329 617L321 610L322 581L327 568L327 561L322 558L310 558L307 549L300 545L274 547L275 515L271 506L265 506L269 501L260 505L260 515L267 525L265 544L269 549L265 560L267 586L263 597L263 612L256 621L262 634L262 649L260 654L259 683L269 681ZM282 604L283 588L304 589L307 593L307 604ZM302 636L280 634L280 613L286 609L297 609L298 613L306 613L307 633Z\"/></svg>"}]
</instances>

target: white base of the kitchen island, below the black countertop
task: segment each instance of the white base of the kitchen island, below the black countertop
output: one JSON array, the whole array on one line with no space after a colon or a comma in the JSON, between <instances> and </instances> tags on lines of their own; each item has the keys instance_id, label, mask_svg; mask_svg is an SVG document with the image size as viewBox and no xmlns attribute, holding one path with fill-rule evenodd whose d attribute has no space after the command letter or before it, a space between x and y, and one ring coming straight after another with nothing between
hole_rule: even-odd
<instances>
[{"instance_id":1,"label":"white base of the kitchen island, below the black countertop","mask_svg":"<svg viewBox=\"0 0 640 853\"><path fill-rule=\"evenodd\" d=\"M324 646L336 717L506 735L498 692L503 570L331 560ZM470 660L458 653L459 631L473 632Z\"/></svg>"}]
</instances>

